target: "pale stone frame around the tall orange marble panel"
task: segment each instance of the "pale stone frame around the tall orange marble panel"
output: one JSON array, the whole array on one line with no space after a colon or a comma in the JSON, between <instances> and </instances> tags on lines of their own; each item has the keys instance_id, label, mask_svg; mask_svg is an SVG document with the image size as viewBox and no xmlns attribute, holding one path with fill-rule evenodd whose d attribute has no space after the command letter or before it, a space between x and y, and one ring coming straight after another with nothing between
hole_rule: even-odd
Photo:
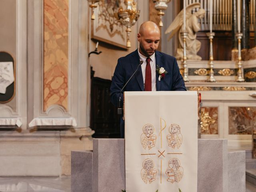
<instances>
[{"instance_id":1,"label":"pale stone frame around the tall orange marble panel","mask_svg":"<svg viewBox=\"0 0 256 192\"><path fill-rule=\"evenodd\" d=\"M69 1L68 109L52 105L43 110L43 1L28 0L28 119L74 118L76 127L90 123L90 68L88 66L88 2ZM89 113L89 114L88 114Z\"/></svg>"}]
</instances>

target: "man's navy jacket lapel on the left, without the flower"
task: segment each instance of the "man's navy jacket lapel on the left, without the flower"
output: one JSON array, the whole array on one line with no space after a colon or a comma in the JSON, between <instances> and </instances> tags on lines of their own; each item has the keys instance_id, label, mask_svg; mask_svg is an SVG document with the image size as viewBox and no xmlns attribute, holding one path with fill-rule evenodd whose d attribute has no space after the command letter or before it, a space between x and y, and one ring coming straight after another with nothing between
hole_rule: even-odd
<instances>
[{"instance_id":1,"label":"man's navy jacket lapel on the left, without the flower","mask_svg":"<svg viewBox=\"0 0 256 192\"><path fill-rule=\"evenodd\" d=\"M131 57L130 62L132 65L132 73L134 73L134 71L138 67L138 64L140 63L140 56L138 54L138 49L136 49L133 52L133 56ZM144 91L144 82L143 82L141 66L139 66L138 71L136 72L136 74L134 74L134 76L136 77L136 80L138 81L138 84L140 85L140 89L142 91Z\"/></svg>"}]
</instances>

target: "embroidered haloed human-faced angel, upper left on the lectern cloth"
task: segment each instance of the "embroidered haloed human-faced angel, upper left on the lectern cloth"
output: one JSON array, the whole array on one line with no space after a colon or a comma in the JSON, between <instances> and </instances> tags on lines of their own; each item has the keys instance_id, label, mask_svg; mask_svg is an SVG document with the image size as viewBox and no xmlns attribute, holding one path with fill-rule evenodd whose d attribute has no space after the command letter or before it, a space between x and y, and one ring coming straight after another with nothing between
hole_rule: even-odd
<instances>
[{"instance_id":1,"label":"embroidered haloed human-faced angel, upper left on the lectern cloth","mask_svg":"<svg viewBox=\"0 0 256 192\"><path fill-rule=\"evenodd\" d=\"M144 149L148 147L151 149L155 146L156 143L156 135L153 135L154 127L151 124L146 124L143 127L143 133L140 136L140 142Z\"/></svg>"}]
</instances>

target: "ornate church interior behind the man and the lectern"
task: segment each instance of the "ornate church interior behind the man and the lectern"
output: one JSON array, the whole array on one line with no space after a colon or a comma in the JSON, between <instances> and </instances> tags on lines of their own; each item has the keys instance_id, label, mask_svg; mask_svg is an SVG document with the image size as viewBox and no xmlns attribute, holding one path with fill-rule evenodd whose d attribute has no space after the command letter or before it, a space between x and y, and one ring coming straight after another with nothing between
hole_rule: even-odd
<instances>
[{"instance_id":1,"label":"ornate church interior behind the man and the lectern","mask_svg":"<svg viewBox=\"0 0 256 192\"><path fill-rule=\"evenodd\" d=\"M242 150L256 192L256 0L0 0L0 192L80 192L72 151L120 138L112 76L149 20L198 92L198 138Z\"/></svg>"}]
</instances>

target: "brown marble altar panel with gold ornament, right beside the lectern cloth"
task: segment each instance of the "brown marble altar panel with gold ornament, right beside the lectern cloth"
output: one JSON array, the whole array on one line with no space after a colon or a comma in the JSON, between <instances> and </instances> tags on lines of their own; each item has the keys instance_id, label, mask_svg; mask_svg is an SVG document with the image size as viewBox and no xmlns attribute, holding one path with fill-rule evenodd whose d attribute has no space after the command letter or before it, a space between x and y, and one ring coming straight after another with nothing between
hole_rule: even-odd
<instances>
[{"instance_id":1,"label":"brown marble altar panel with gold ornament, right beside the lectern cloth","mask_svg":"<svg viewBox=\"0 0 256 192\"><path fill-rule=\"evenodd\" d=\"M218 134L218 107L202 107L201 134Z\"/></svg>"}]
</instances>

